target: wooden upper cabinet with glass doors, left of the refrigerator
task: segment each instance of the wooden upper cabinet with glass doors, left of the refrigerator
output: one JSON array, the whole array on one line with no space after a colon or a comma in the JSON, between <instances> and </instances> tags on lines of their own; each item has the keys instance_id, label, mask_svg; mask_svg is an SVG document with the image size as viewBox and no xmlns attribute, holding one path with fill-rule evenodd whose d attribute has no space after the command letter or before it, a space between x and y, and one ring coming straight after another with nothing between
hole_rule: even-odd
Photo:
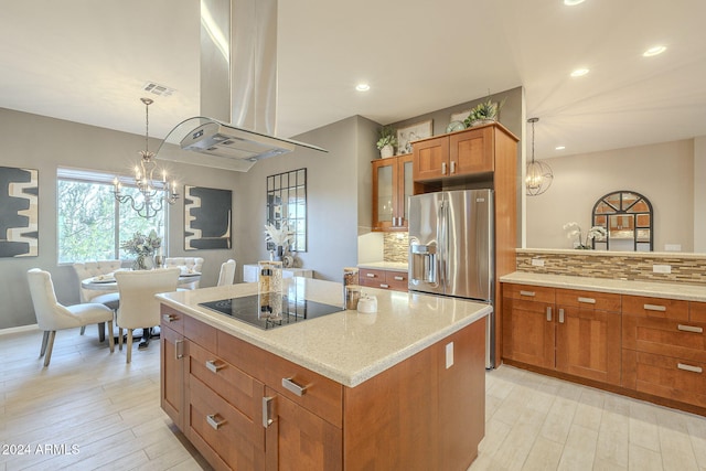
<instances>
[{"instance_id":1,"label":"wooden upper cabinet with glass doors, left of the refrigerator","mask_svg":"<svg viewBox=\"0 0 706 471\"><path fill-rule=\"evenodd\" d=\"M373 231L407 231L413 154L373 161Z\"/></svg>"}]
</instances>

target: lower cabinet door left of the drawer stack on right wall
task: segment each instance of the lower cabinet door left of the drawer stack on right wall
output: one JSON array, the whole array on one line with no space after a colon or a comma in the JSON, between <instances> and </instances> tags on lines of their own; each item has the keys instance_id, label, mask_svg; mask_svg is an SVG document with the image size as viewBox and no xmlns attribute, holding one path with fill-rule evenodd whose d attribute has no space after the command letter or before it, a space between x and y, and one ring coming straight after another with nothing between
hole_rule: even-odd
<instances>
[{"instance_id":1,"label":"lower cabinet door left of the drawer stack on right wall","mask_svg":"<svg viewBox=\"0 0 706 471\"><path fill-rule=\"evenodd\" d=\"M561 304L556 311L556 368L619 386L620 313Z\"/></svg>"}]
</instances>

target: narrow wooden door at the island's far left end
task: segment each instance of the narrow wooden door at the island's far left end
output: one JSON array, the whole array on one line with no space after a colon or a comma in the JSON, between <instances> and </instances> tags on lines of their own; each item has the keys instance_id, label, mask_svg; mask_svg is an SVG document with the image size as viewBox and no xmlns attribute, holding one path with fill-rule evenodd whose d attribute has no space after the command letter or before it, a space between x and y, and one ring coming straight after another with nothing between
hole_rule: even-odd
<instances>
[{"instance_id":1,"label":"narrow wooden door at the island's far left end","mask_svg":"<svg viewBox=\"0 0 706 471\"><path fill-rule=\"evenodd\" d=\"M184 426L184 338L164 327L160 328L160 406L183 430Z\"/></svg>"}]
</instances>

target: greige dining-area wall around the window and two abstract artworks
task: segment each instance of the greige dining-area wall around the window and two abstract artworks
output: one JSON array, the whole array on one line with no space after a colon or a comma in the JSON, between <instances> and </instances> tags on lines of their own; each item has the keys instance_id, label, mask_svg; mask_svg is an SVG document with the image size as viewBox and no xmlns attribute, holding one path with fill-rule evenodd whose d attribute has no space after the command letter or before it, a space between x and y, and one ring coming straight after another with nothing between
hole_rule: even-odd
<instances>
[{"instance_id":1,"label":"greige dining-area wall around the window and two abstract artworks","mask_svg":"<svg viewBox=\"0 0 706 471\"><path fill-rule=\"evenodd\" d=\"M78 302L78 285L71 265L57 264L56 169L69 167L129 174L145 137L0 108L0 165L39 170L39 256L0 258L0 329L36 323L26 283L26 270L49 270L60 302ZM158 140L150 143L157 149ZM169 164L179 184L234 190L243 175L205 167ZM202 286L215 285L222 260L238 258L231 250L190 250L183 247L183 200L170 206L169 255L204 257ZM237 227L237 221L235 226Z\"/></svg>"}]
</instances>

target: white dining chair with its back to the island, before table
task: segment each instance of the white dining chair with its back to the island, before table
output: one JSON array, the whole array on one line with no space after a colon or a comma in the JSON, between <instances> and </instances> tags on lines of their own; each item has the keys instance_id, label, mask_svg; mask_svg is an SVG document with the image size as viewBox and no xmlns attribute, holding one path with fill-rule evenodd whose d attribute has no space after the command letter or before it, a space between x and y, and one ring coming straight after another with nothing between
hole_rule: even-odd
<instances>
[{"instance_id":1,"label":"white dining chair with its back to the island, before table","mask_svg":"<svg viewBox=\"0 0 706 471\"><path fill-rule=\"evenodd\" d=\"M118 307L118 347L122 350L122 329L127 329L127 358L132 360L132 331L142 329L143 341L149 340L149 329L159 325L159 300L154 295L176 291L179 268L156 270L116 271L120 306Z\"/></svg>"}]
</instances>

